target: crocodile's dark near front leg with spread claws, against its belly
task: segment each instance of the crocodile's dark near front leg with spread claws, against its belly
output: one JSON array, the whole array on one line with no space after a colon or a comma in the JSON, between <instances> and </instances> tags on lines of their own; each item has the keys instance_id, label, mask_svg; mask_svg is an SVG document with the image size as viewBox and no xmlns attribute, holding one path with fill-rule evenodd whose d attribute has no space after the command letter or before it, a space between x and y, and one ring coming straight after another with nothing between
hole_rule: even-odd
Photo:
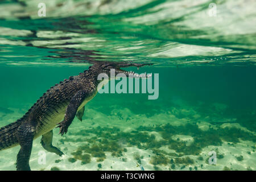
<instances>
[{"instance_id":1,"label":"crocodile's dark near front leg with spread claws, against its belly","mask_svg":"<svg viewBox=\"0 0 256 182\"><path fill-rule=\"evenodd\" d=\"M57 123L57 127L60 128L60 134L61 136L68 131L69 125L71 125L73 119L76 116L77 109L82 104L82 102L85 100L85 97L87 95L87 92L84 90L79 90L75 96L71 98L71 101L68 104L68 107L65 112L64 120L60 123Z\"/></svg>"}]
</instances>

